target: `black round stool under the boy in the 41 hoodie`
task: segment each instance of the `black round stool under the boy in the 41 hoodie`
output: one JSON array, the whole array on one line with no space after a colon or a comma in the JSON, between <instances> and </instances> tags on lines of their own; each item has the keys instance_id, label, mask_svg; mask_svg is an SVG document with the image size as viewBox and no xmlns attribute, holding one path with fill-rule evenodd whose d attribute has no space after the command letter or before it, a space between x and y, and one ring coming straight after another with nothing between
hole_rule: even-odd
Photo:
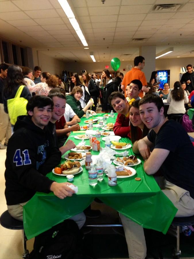
<instances>
[{"instance_id":1,"label":"black round stool under the boy in the 41 hoodie","mask_svg":"<svg viewBox=\"0 0 194 259\"><path fill-rule=\"evenodd\" d=\"M8 229L14 229L14 230L22 230L22 244L23 244L23 254L22 258L28 258L28 250L26 249L26 235L24 233L24 226L23 222L20 220L16 220L15 218L12 218L11 215L9 214L8 210L3 212L0 217L0 224L4 228Z\"/></svg>"}]
</instances>

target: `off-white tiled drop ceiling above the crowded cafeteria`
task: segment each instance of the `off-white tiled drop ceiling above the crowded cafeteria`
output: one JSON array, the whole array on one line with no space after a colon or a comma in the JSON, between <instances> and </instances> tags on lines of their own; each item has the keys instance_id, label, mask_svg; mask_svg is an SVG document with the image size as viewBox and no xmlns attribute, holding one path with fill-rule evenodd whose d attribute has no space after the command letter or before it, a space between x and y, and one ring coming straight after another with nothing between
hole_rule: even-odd
<instances>
[{"instance_id":1,"label":"off-white tiled drop ceiling above the crowded cafeteria","mask_svg":"<svg viewBox=\"0 0 194 259\"><path fill-rule=\"evenodd\" d=\"M194 57L194 0L68 0L89 49L84 49L57 0L0 0L0 36L64 61L133 60L140 46L163 58ZM166 8L165 4L176 4ZM162 8L158 5L162 5ZM153 11L157 6L156 11ZM176 11L174 11L176 10ZM133 39L145 38L142 41Z\"/></svg>"}]
</instances>

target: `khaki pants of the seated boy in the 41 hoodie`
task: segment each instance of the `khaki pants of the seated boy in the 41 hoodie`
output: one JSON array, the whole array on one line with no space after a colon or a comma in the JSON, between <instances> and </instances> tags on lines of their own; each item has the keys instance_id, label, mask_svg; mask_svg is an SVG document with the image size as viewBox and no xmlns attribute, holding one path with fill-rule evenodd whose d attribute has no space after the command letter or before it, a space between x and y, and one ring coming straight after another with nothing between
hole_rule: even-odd
<instances>
[{"instance_id":1,"label":"khaki pants of the seated boy in the 41 hoodie","mask_svg":"<svg viewBox=\"0 0 194 259\"><path fill-rule=\"evenodd\" d=\"M24 202L24 203L20 203L20 204L16 204L16 205L7 205L7 209L8 209L8 212L9 214L17 219L17 220L20 220L20 221L23 221L23 206L27 203ZM71 220L74 220L77 225L78 225L78 228L82 228L82 226L84 225L85 221L86 221L86 216L83 212L69 218Z\"/></svg>"}]
</instances>

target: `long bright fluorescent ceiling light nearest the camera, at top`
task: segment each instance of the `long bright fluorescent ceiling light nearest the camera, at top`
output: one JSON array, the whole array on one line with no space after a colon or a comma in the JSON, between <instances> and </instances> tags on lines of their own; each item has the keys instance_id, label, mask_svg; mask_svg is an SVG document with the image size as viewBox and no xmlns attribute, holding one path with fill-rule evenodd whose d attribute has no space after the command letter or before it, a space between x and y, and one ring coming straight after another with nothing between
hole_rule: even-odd
<instances>
[{"instance_id":1,"label":"long bright fluorescent ceiling light nearest the camera, at top","mask_svg":"<svg viewBox=\"0 0 194 259\"><path fill-rule=\"evenodd\" d=\"M86 42L86 39L80 29L80 26L74 16L74 13L72 12L72 9L70 7L70 5L68 4L67 0L58 0L59 4L61 5L61 7L63 8L67 18L69 19L71 25L73 26L75 32L77 33L78 37L80 38L82 44L84 46L88 46L88 43Z\"/></svg>"}]
</instances>

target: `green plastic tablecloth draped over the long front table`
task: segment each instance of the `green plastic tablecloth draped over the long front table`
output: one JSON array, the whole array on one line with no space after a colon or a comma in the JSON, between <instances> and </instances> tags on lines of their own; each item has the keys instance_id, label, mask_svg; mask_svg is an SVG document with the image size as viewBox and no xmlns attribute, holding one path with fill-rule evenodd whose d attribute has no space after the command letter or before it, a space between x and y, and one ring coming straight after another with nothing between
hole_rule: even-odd
<instances>
[{"instance_id":1,"label":"green plastic tablecloth draped over the long front table","mask_svg":"<svg viewBox=\"0 0 194 259\"><path fill-rule=\"evenodd\" d=\"M96 117L98 116L101 114ZM86 119L81 119L80 125L84 124L84 120ZM115 118L107 119L107 123L114 121ZM70 137L77 134L71 133ZM80 142L74 138L70 139L76 144ZM122 138L121 142L130 140ZM89 144L89 140L86 140L86 144ZM102 140L101 146L104 146ZM128 151L129 154L133 154L131 148ZM98 152L92 151L92 154L97 155ZM116 186L109 186L107 176L104 175L104 180L92 187L88 182L88 171L83 166L83 172L74 176L73 184L78 186L78 193L72 197L61 200L53 193L37 192L24 206L24 230L27 238L30 239L64 219L82 212L95 197L143 227L166 233L177 209L162 193L153 176L145 174L143 163L134 168L137 174L129 178L118 178ZM67 181L65 176L56 176L52 172L47 176L57 182ZM136 181L135 177L140 177L141 181Z\"/></svg>"}]
</instances>

